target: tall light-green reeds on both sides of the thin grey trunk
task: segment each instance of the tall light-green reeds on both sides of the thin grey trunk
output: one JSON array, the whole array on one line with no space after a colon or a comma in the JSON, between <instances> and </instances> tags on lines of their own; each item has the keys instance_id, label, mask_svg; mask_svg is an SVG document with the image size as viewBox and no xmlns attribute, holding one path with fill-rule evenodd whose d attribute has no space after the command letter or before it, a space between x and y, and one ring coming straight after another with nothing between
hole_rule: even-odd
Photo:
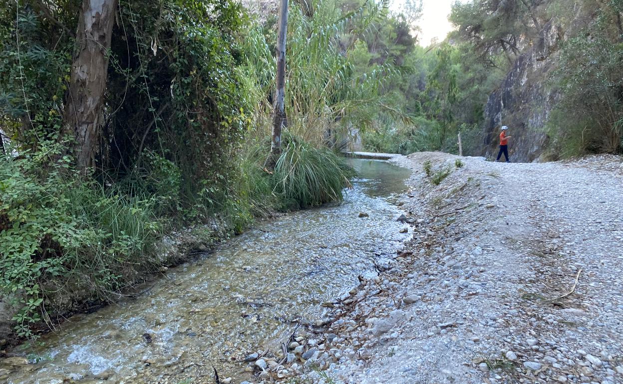
<instances>
[{"instance_id":1,"label":"tall light-green reeds on both sides of the thin grey trunk","mask_svg":"<svg viewBox=\"0 0 623 384\"><path fill-rule=\"evenodd\" d=\"M361 44L374 21L383 17L384 3L366 2L343 12L337 2L323 0L306 10L290 6L287 35L285 112L288 129L319 146L339 146L353 127L370 126L384 103L383 82L397 72L391 65L368 65ZM244 68L254 110L255 138L272 128L275 33L257 24L245 39ZM366 65L356 67L356 63Z\"/></svg>"}]
</instances>

